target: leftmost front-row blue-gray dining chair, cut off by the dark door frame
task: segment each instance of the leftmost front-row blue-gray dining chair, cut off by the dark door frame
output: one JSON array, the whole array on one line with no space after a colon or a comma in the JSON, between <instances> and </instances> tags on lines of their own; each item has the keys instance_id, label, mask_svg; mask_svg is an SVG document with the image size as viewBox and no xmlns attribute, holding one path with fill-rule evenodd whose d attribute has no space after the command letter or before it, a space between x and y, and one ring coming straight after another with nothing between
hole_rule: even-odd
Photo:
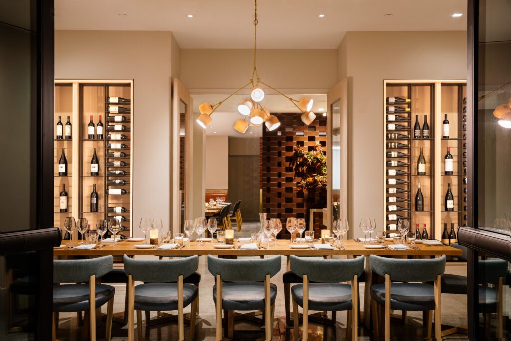
<instances>
[{"instance_id":1,"label":"leftmost front-row blue-gray dining chair, cut off by the dark door frame","mask_svg":"<svg viewBox=\"0 0 511 341\"><path fill-rule=\"evenodd\" d=\"M74 311L86 312L85 318L90 325L89 339L96 340L96 308L107 302L106 339L110 339L115 288L107 284L96 284L96 278L107 274L112 269L112 265L112 256L53 261L53 282L55 283L53 287L54 340L56 338L55 320L57 313ZM95 304L90 304L92 301Z\"/></svg>"}]
</instances>

